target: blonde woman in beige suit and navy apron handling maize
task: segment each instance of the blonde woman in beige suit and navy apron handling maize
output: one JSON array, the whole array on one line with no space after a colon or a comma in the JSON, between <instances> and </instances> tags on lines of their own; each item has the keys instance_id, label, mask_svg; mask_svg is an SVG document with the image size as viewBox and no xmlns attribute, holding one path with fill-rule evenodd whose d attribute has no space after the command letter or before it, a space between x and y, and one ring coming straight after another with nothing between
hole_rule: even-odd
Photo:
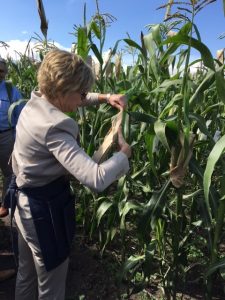
<instances>
[{"instance_id":1,"label":"blonde woman in beige suit and navy apron handling maize","mask_svg":"<svg viewBox=\"0 0 225 300\"><path fill-rule=\"evenodd\" d=\"M16 300L37 299L37 293L38 299L64 299L75 222L65 175L102 191L129 169L131 150L121 130L120 151L100 165L77 143L77 123L65 112L106 101L119 108L125 105L122 95L87 96L92 84L92 71L80 57L52 50L38 72L39 91L32 92L20 115L12 155L19 190Z\"/></svg>"}]
</instances>

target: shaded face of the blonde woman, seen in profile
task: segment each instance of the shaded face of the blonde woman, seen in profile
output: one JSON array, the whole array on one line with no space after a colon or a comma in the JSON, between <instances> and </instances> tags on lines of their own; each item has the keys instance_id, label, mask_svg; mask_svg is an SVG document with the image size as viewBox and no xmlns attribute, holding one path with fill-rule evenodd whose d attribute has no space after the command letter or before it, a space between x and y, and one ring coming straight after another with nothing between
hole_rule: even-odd
<instances>
[{"instance_id":1,"label":"shaded face of the blonde woman, seen in profile","mask_svg":"<svg viewBox=\"0 0 225 300\"><path fill-rule=\"evenodd\" d=\"M86 93L71 92L59 99L59 108L63 112L72 112L77 110L78 106L82 106L83 100L86 98Z\"/></svg>"}]
</instances>

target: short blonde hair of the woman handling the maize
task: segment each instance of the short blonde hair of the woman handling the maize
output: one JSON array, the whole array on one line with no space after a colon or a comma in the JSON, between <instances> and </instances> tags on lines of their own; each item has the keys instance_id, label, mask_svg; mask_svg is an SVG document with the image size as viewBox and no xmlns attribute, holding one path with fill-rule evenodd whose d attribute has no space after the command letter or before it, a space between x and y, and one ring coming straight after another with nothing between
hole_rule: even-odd
<instances>
[{"instance_id":1,"label":"short blonde hair of the woman handling the maize","mask_svg":"<svg viewBox=\"0 0 225 300\"><path fill-rule=\"evenodd\" d=\"M71 92L88 92L94 83L91 68L76 54L54 49L38 70L38 86L48 100Z\"/></svg>"}]
</instances>

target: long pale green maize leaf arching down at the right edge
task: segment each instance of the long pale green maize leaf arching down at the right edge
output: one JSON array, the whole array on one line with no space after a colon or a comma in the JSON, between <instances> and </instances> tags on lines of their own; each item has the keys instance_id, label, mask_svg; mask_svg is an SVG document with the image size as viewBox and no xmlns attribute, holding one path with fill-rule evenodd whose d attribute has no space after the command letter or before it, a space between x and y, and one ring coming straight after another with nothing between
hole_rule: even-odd
<instances>
[{"instance_id":1,"label":"long pale green maize leaf arching down at the right edge","mask_svg":"<svg viewBox=\"0 0 225 300\"><path fill-rule=\"evenodd\" d=\"M209 209L209 188L211 185L212 173L214 171L217 161L219 160L220 156L224 151L224 148L225 148L225 135L222 136L215 144L207 160L207 165L204 172L203 185L204 185L205 200L208 209Z\"/></svg>"}]
</instances>

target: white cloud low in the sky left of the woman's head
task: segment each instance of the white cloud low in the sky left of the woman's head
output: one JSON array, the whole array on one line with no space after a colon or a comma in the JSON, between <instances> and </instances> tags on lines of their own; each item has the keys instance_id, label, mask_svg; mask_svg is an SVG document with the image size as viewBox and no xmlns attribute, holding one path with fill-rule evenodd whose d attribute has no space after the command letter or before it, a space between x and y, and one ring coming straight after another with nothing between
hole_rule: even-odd
<instances>
[{"instance_id":1,"label":"white cloud low in the sky left of the woman's head","mask_svg":"<svg viewBox=\"0 0 225 300\"><path fill-rule=\"evenodd\" d=\"M28 56L34 56L35 59L38 59L38 50L36 41L28 40L11 40L5 42L8 47L3 47L0 45L0 56L3 58L11 57L14 60L18 60L20 55L26 54ZM39 44L40 45L40 44ZM70 51L69 48L65 48L61 44L54 42L54 45L60 49Z\"/></svg>"}]
</instances>

